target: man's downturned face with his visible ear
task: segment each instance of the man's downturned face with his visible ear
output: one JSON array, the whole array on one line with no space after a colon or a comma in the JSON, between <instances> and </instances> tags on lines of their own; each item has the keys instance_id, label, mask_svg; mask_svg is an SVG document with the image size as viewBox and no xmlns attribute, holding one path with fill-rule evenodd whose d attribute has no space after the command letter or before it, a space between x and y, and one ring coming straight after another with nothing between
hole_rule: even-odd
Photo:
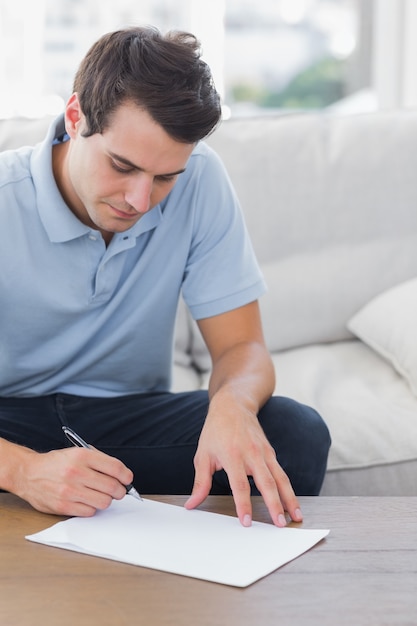
<instances>
[{"instance_id":1,"label":"man's downturned face with his visible ear","mask_svg":"<svg viewBox=\"0 0 417 626\"><path fill-rule=\"evenodd\" d=\"M63 144L61 157L54 153L58 186L75 215L106 241L168 195L194 147L172 139L132 103L115 111L102 134L83 137L85 118L73 95L66 127L71 140Z\"/></svg>"}]
</instances>

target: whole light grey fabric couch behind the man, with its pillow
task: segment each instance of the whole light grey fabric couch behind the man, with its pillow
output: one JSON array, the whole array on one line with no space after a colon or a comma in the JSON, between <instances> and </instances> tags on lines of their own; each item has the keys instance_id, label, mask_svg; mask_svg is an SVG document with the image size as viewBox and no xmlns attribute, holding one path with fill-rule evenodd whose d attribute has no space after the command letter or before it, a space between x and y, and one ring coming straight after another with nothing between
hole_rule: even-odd
<instances>
[{"instance_id":1,"label":"whole light grey fabric couch behind the man, with its pillow","mask_svg":"<svg viewBox=\"0 0 417 626\"><path fill-rule=\"evenodd\" d=\"M0 121L0 149L48 121ZM417 495L417 111L231 120L208 142L269 285L276 393L331 431L322 494ZM173 389L205 387L209 371L181 303Z\"/></svg>"}]
</instances>

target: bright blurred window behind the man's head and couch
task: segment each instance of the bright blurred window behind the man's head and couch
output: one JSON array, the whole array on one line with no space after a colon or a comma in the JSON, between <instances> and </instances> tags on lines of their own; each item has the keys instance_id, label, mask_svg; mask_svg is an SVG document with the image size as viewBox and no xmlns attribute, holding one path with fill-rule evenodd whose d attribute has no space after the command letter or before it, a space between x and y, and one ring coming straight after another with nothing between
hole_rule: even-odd
<instances>
[{"instance_id":1,"label":"bright blurred window behind the man's head and couch","mask_svg":"<svg viewBox=\"0 0 417 626\"><path fill-rule=\"evenodd\" d=\"M0 117L62 110L101 34L129 24L201 40L229 115L417 100L413 0L1 0Z\"/></svg>"}]
</instances>

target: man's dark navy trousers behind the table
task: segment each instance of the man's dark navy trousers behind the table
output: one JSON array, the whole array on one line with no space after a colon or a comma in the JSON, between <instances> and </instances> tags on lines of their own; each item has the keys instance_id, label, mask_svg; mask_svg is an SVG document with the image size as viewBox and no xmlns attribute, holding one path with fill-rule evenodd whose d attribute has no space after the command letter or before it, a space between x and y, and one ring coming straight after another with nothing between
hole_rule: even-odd
<instances>
[{"instance_id":1,"label":"man's dark navy trousers behind the table","mask_svg":"<svg viewBox=\"0 0 417 626\"><path fill-rule=\"evenodd\" d=\"M0 398L0 437L38 452L71 445L62 426L121 459L143 494L189 494L193 459L207 414L206 391L84 398L63 393ZM326 471L330 436L316 411L273 397L260 424L297 495L318 495ZM212 494L229 494L225 472L213 477ZM256 494L255 488L252 493Z\"/></svg>"}]
</instances>

